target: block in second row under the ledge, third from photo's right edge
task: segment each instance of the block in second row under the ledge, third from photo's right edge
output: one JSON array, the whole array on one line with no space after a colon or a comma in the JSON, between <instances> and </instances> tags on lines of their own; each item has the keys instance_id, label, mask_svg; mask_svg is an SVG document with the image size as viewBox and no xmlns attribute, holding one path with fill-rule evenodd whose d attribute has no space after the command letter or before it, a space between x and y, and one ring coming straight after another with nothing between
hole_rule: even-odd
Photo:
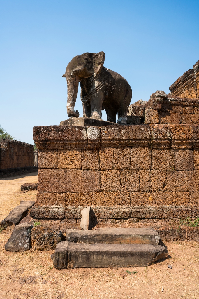
<instances>
[{"instance_id":1,"label":"block in second row under the ledge, third from photo's right edge","mask_svg":"<svg viewBox=\"0 0 199 299\"><path fill-rule=\"evenodd\" d=\"M151 170L152 191L166 191L166 170Z\"/></svg>"}]
</instances>

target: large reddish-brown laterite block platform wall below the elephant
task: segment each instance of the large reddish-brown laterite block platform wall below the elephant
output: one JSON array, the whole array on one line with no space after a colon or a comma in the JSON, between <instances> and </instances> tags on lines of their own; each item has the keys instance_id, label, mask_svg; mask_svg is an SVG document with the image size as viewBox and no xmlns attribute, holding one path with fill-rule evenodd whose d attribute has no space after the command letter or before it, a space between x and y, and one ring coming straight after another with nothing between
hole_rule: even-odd
<instances>
[{"instance_id":1,"label":"large reddish-brown laterite block platform wall below the elephant","mask_svg":"<svg viewBox=\"0 0 199 299\"><path fill-rule=\"evenodd\" d=\"M34 127L36 218L199 216L199 126Z\"/></svg>"}]
</instances>

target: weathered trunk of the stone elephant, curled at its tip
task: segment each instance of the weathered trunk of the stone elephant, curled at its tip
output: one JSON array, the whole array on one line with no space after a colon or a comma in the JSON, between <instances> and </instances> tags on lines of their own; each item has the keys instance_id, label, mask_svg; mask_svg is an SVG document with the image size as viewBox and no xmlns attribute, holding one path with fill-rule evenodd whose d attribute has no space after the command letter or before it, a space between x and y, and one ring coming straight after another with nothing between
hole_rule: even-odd
<instances>
[{"instance_id":1,"label":"weathered trunk of the stone elephant, curled at its tip","mask_svg":"<svg viewBox=\"0 0 199 299\"><path fill-rule=\"evenodd\" d=\"M79 117L79 112L75 109L75 102L77 99L77 92L78 92L78 84L79 78L78 76L74 77L67 77L67 88L68 88L68 97L67 97L67 114L69 117Z\"/></svg>"}]
</instances>

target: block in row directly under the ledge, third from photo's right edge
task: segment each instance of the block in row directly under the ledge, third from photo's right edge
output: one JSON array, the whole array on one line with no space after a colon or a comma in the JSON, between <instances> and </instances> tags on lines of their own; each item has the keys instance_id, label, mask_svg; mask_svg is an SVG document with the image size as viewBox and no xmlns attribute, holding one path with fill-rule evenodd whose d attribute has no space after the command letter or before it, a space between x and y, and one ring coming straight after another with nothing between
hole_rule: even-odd
<instances>
[{"instance_id":1,"label":"block in row directly under the ledge, third from photo's right edge","mask_svg":"<svg viewBox=\"0 0 199 299\"><path fill-rule=\"evenodd\" d=\"M173 149L152 149L151 169L172 170L174 169Z\"/></svg>"}]
</instances>

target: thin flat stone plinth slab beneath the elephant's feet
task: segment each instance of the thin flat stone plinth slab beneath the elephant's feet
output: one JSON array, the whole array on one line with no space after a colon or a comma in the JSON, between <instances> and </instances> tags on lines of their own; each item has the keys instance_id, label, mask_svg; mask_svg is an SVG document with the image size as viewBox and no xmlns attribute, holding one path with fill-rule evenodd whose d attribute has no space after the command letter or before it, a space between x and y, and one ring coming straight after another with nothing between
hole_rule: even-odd
<instances>
[{"instance_id":1,"label":"thin flat stone plinth slab beneath the elephant's feet","mask_svg":"<svg viewBox=\"0 0 199 299\"><path fill-rule=\"evenodd\" d=\"M120 126L118 123L87 117L70 117L60 122L60 126Z\"/></svg>"}]
</instances>

